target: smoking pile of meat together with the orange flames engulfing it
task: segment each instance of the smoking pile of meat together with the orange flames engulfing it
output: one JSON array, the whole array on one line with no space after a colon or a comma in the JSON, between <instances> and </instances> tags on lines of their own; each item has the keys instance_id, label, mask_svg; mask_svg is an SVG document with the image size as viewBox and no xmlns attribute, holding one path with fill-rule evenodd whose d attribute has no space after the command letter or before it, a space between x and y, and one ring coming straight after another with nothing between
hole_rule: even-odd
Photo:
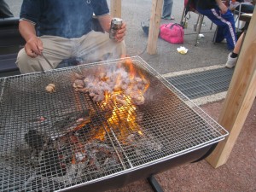
<instances>
[{"instance_id":1,"label":"smoking pile of meat together with the orange flames engulfing it","mask_svg":"<svg viewBox=\"0 0 256 192\"><path fill-rule=\"evenodd\" d=\"M73 87L88 91L102 109L108 108L111 111L106 114L106 122L93 128L90 139L103 141L106 129L110 131L109 127L123 143L133 133L143 136L137 120L137 106L145 102L144 94L148 90L149 81L142 71L136 70L131 59L118 63L116 68L99 68L96 74L90 73L84 77L84 84L77 80Z\"/></svg>"}]
</instances>

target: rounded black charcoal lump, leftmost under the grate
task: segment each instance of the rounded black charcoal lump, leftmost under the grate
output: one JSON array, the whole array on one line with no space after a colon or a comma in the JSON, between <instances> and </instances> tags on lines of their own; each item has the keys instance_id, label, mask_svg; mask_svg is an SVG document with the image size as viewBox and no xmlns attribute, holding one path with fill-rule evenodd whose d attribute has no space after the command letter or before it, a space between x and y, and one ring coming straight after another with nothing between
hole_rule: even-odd
<instances>
[{"instance_id":1,"label":"rounded black charcoal lump, leftmost under the grate","mask_svg":"<svg viewBox=\"0 0 256 192\"><path fill-rule=\"evenodd\" d=\"M38 151L44 148L44 144L46 143L45 137L43 137L38 131L30 130L25 134L26 143L33 149Z\"/></svg>"}]
</instances>

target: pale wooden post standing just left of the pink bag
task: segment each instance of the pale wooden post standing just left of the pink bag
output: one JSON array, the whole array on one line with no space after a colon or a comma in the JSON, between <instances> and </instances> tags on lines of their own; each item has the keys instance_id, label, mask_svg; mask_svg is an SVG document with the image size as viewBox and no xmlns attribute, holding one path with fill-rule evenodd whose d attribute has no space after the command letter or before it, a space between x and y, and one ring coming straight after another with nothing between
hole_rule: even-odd
<instances>
[{"instance_id":1,"label":"pale wooden post standing just left of the pink bag","mask_svg":"<svg viewBox=\"0 0 256 192\"><path fill-rule=\"evenodd\" d=\"M163 0L152 0L152 9L151 9L149 33L148 33L148 47L147 47L147 52L149 55L156 54L162 6L163 6Z\"/></svg>"}]
</instances>

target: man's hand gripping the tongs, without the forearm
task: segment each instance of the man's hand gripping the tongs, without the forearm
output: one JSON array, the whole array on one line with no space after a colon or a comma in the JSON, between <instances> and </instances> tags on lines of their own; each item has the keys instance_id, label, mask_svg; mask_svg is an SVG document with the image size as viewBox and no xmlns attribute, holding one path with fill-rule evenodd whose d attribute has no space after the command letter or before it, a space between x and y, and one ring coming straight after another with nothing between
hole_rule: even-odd
<instances>
[{"instance_id":1,"label":"man's hand gripping the tongs, without the forearm","mask_svg":"<svg viewBox=\"0 0 256 192\"><path fill-rule=\"evenodd\" d=\"M32 58L41 55L43 49L43 43L38 37L32 37L28 39L25 44L26 55L29 55Z\"/></svg>"}]
</instances>

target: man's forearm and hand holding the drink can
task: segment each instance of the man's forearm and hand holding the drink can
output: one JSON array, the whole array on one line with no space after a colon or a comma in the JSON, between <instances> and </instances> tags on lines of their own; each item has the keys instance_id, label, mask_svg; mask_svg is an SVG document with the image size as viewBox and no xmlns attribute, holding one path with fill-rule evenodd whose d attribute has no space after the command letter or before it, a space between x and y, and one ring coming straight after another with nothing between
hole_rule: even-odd
<instances>
[{"instance_id":1,"label":"man's forearm and hand holding the drink can","mask_svg":"<svg viewBox=\"0 0 256 192\"><path fill-rule=\"evenodd\" d=\"M99 20L102 26L102 29L105 32L109 32L112 17L110 15L102 15L102 16L98 16L97 19ZM123 25L121 26L121 29L119 29L119 31L117 32L115 39L118 42L121 42L125 38L125 32L126 32L126 24L123 22Z\"/></svg>"}]
</instances>

